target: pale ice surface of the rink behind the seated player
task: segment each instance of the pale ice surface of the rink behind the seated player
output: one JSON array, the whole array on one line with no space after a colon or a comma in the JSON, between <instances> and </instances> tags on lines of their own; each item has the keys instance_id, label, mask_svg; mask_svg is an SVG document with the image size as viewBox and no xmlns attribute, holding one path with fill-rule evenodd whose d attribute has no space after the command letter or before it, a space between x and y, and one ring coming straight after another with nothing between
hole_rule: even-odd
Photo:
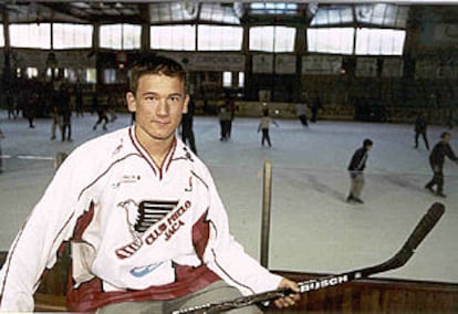
<instances>
[{"instance_id":1,"label":"pale ice surface of the rink behind the seated player","mask_svg":"<svg viewBox=\"0 0 458 314\"><path fill-rule=\"evenodd\" d=\"M51 119L7 119L0 111L3 174L0 175L0 250L8 250L54 172L58 151L104 132L92 130L96 115L73 115L74 142L50 140ZM299 121L272 126L272 148L262 147L257 118L236 117L231 139L219 140L216 117L196 117L199 157L214 174L229 213L231 230L246 250L260 257L262 169L273 165L269 268L339 273L382 262L404 243L435 201L446 213L407 265L378 276L458 283L458 165L446 161L440 199L424 189L431 177L423 142L414 149L414 130L406 124L319 121L304 128ZM131 124L118 115L114 130ZM443 126L430 126L433 147ZM458 128L451 147L458 154ZM345 202L346 167L364 138L374 142L366 168L364 205ZM59 139L60 137L58 137Z\"/></svg>"}]
</instances>

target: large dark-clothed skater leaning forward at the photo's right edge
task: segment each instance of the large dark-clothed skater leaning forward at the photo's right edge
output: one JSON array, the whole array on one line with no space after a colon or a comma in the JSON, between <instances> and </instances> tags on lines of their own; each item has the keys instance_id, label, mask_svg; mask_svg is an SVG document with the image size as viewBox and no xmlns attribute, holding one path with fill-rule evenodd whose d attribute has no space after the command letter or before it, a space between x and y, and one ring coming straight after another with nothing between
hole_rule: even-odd
<instances>
[{"instance_id":1,"label":"large dark-clothed skater leaning forward at the photo's right edge","mask_svg":"<svg viewBox=\"0 0 458 314\"><path fill-rule=\"evenodd\" d=\"M433 193L439 197L446 197L444 193L444 163L447 156L451 160L458 164L458 157L455 155L450 147L450 133L444 132L440 135L440 142L438 142L429 154L429 165L433 169L433 179L426 184L425 189L430 190ZM437 186L435 191L433 187Z\"/></svg>"}]
</instances>

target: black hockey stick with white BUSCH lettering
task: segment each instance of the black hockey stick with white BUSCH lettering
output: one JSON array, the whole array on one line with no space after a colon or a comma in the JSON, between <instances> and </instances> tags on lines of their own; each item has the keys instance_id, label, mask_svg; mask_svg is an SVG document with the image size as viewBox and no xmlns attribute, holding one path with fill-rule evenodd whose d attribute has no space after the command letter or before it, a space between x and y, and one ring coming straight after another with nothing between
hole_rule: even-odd
<instances>
[{"instance_id":1,"label":"black hockey stick with white BUSCH lettering","mask_svg":"<svg viewBox=\"0 0 458 314\"><path fill-rule=\"evenodd\" d=\"M334 286L343 284L353 280L367 278L369 275L386 272L388 270L394 270L400 268L407 263L410 257L415 253L416 248L419 243L426 238L429 231L436 226L440 217L445 212L445 206L439 202L435 202L428 210L427 213L421 218L418 224L415 227L412 234L408 237L407 241L400 248L400 250L389 260L379 263L374 266L368 266L360 269L356 271L350 271L346 273L341 273L337 275L330 275L323 279L308 280L299 282L300 293L306 293L313 290L320 290L327 286ZM252 294L248 296L240 296L233 300L228 300L218 303L208 303L189 308L174 311L173 314L209 314L209 313L221 313L225 311L243 307L252 304L263 304L269 301L284 297L294 292L290 289L279 289L272 290L263 293Z\"/></svg>"}]
</instances>

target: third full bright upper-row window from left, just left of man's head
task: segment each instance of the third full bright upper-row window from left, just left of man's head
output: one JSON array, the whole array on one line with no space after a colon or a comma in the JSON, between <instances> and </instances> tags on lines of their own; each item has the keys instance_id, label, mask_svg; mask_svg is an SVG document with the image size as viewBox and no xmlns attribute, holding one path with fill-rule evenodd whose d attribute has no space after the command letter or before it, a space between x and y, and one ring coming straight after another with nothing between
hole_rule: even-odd
<instances>
[{"instance_id":1,"label":"third full bright upper-row window from left, just left of man's head","mask_svg":"<svg viewBox=\"0 0 458 314\"><path fill-rule=\"evenodd\" d=\"M139 49L142 27L132 24L112 24L101 27L101 48Z\"/></svg>"}]
</instances>

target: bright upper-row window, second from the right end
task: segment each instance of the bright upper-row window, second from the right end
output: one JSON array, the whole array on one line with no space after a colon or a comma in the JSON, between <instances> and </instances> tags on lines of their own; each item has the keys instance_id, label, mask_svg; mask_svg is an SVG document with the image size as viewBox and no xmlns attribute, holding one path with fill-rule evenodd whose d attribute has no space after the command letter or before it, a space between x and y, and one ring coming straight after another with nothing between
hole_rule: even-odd
<instances>
[{"instance_id":1,"label":"bright upper-row window, second from the right end","mask_svg":"<svg viewBox=\"0 0 458 314\"><path fill-rule=\"evenodd\" d=\"M353 28L308 29L309 52L352 54L354 33Z\"/></svg>"}]
</instances>

